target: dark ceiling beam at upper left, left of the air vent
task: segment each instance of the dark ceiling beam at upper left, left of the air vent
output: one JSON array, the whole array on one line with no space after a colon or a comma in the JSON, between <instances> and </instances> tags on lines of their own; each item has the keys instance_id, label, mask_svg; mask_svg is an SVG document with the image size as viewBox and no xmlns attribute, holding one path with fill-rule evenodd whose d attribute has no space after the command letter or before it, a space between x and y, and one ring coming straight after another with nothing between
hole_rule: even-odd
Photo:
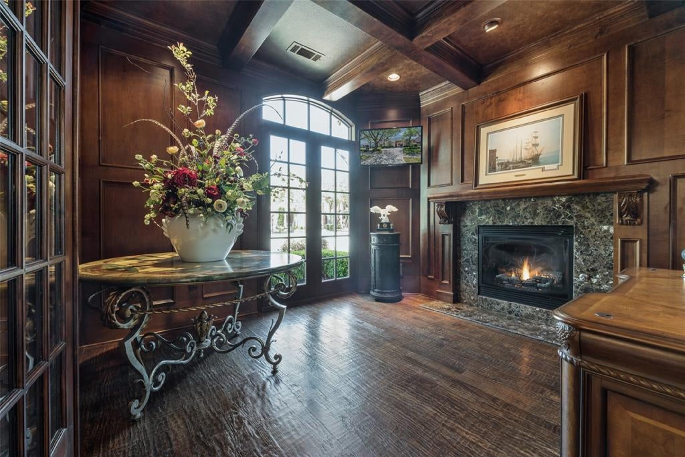
<instances>
[{"instance_id":1,"label":"dark ceiling beam at upper left, left of the air vent","mask_svg":"<svg viewBox=\"0 0 685 457\"><path fill-rule=\"evenodd\" d=\"M219 38L223 66L241 71L273 27L290 8L292 0L240 0Z\"/></svg>"}]
</instances>

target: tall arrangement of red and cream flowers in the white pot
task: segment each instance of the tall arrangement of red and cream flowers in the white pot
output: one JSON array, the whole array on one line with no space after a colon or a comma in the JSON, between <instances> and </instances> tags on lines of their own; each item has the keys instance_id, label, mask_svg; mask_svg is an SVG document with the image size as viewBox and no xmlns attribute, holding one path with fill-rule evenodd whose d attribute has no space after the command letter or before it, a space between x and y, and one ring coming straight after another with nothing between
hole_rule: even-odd
<instances>
[{"instance_id":1,"label":"tall arrangement of red and cream flowers in the white pot","mask_svg":"<svg viewBox=\"0 0 685 457\"><path fill-rule=\"evenodd\" d=\"M134 181L133 185L149 193L144 222L146 225L151 222L159 225L158 217L183 215L186 227L190 228L188 215L197 214L202 221L216 215L227 224L234 224L236 217L247 217L257 195L278 191L269 187L267 173L247 173L250 163L257 167L253 158L253 148L259 144L257 138L234 134L238 123L262 105L253 106L238 116L225 133L218 129L211 131L207 127L207 119L214 114L218 97L210 95L208 90L203 94L198 91L195 71L188 62L192 53L183 43L169 49L186 74L186 81L175 84L187 100L177 110L186 116L192 128L182 129L184 142L158 121L134 121L155 123L165 129L176 143L166 148L168 157L164 159L155 154L149 158L136 154L138 164L145 170L145 179ZM273 174L285 175L280 171ZM290 175L288 178L297 179Z\"/></svg>"}]
</instances>

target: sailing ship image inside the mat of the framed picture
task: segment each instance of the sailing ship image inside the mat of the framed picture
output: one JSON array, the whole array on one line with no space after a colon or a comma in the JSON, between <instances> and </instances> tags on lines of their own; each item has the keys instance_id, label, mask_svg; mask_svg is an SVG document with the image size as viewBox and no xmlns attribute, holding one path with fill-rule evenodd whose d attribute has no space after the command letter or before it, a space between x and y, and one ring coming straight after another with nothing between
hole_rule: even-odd
<instances>
[{"instance_id":1,"label":"sailing ship image inside the mat of the framed picture","mask_svg":"<svg viewBox=\"0 0 685 457\"><path fill-rule=\"evenodd\" d=\"M563 116L487 134L487 173L561 164Z\"/></svg>"}]
</instances>

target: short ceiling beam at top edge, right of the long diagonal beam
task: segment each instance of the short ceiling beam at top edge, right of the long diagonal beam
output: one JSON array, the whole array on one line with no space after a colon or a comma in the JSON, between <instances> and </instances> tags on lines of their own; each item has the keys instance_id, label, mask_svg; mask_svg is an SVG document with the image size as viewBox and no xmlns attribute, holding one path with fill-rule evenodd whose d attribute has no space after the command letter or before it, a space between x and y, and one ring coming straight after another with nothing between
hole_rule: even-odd
<instances>
[{"instance_id":1,"label":"short ceiling beam at top edge, right of the long diagonal beam","mask_svg":"<svg viewBox=\"0 0 685 457\"><path fill-rule=\"evenodd\" d=\"M421 22L417 21L414 43L419 47L427 48L434 42L438 42L446 36L457 32L467 23L475 19L482 19L482 16L489 14L498 6L506 3L506 1L475 0L466 5L449 1L440 2L438 6L441 8L434 8L429 12L430 18L425 18ZM448 10L447 8L450 7L451 10Z\"/></svg>"}]
</instances>

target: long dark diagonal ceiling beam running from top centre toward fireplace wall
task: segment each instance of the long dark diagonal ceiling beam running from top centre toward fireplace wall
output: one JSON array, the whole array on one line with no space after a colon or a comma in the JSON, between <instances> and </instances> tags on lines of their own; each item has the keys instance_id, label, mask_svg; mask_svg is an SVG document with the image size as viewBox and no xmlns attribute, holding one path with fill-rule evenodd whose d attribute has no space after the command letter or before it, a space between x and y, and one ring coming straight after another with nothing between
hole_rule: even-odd
<instances>
[{"instance_id":1,"label":"long dark diagonal ceiling beam running from top centre toward fireplace wall","mask_svg":"<svg viewBox=\"0 0 685 457\"><path fill-rule=\"evenodd\" d=\"M423 49L407 36L397 32L393 27L386 25L386 23L380 21L369 12L359 8L358 2L313 1L460 88L468 89L477 86L480 66L464 60L463 55L446 55L445 53L436 55ZM445 48L441 50L445 51Z\"/></svg>"}]
</instances>

